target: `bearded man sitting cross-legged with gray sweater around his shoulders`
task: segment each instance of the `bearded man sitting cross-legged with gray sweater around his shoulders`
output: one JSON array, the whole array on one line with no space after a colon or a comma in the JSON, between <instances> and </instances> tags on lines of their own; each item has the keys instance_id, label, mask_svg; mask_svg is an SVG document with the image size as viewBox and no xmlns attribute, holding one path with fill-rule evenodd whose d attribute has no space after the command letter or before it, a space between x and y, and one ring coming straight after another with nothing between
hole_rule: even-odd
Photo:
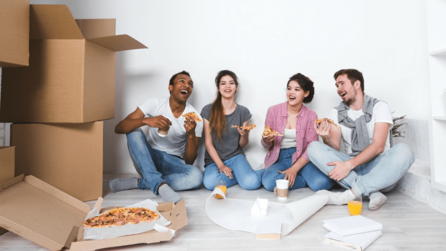
<instances>
[{"instance_id":1,"label":"bearded man sitting cross-legged with gray sweater around his shoulders","mask_svg":"<svg viewBox=\"0 0 446 251\"><path fill-rule=\"evenodd\" d=\"M315 121L316 133L322 142L313 142L308 157L321 171L338 182L344 192L318 191L327 194L327 204L343 205L359 196L369 196L369 209L386 203L381 192L393 189L414 161L413 151L405 144L391 146L392 116L386 102L364 93L364 78L355 69L335 73L339 106L330 112L330 119ZM339 152L341 140L345 154Z\"/></svg>"}]
</instances>

